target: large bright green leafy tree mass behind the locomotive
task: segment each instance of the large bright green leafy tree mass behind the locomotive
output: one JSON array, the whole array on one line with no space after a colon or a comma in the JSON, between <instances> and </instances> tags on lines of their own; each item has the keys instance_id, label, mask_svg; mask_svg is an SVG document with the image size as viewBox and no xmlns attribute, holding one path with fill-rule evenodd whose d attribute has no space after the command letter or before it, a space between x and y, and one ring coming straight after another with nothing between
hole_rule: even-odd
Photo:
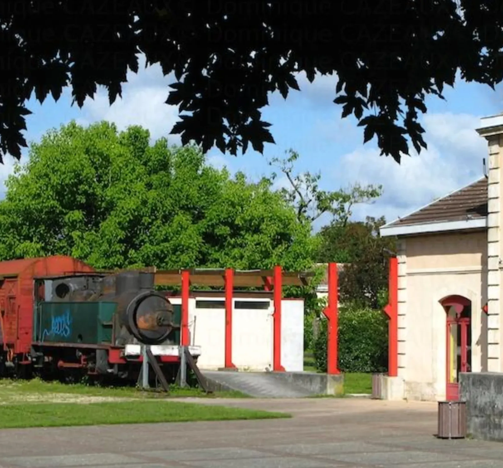
<instances>
[{"instance_id":1,"label":"large bright green leafy tree mass behind the locomotive","mask_svg":"<svg viewBox=\"0 0 503 468\"><path fill-rule=\"evenodd\" d=\"M0 202L0 259L71 255L97 268L305 269L309 228L267 179L205 163L196 146L149 143L141 127L118 132L74 122L32 144Z\"/></svg>"}]
</instances>

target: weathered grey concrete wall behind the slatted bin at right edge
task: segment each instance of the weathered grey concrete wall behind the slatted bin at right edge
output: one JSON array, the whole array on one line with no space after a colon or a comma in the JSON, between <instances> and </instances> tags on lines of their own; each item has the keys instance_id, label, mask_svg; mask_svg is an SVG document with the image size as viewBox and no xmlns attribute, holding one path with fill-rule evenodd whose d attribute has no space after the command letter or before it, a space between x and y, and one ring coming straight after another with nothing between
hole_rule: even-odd
<instances>
[{"instance_id":1,"label":"weathered grey concrete wall behind the slatted bin at right edge","mask_svg":"<svg viewBox=\"0 0 503 468\"><path fill-rule=\"evenodd\" d=\"M503 441L503 373L461 373L459 383L460 400L466 401L468 434Z\"/></svg>"}]
</instances>

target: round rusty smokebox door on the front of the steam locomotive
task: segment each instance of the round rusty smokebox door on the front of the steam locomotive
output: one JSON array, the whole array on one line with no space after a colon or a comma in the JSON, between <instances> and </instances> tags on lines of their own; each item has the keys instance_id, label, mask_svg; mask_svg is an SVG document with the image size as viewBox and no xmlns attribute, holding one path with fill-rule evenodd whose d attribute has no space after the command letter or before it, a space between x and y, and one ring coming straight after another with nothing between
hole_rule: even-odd
<instances>
[{"instance_id":1,"label":"round rusty smokebox door on the front of the steam locomotive","mask_svg":"<svg viewBox=\"0 0 503 468\"><path fill-rule=\"evenodd\" d=\"M140 292L127 307L131 334L147 345L164 342L173 330L173 305L156 292Z\"/></svg>"}]
</instances>

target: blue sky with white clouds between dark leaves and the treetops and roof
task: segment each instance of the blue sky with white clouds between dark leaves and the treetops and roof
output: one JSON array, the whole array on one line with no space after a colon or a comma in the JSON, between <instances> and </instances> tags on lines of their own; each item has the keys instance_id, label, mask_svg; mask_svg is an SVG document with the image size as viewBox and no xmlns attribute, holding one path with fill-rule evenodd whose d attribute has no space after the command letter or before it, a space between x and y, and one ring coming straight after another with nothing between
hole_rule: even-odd
<instances>
[{"instance_id":1,"label":"blue sky with white clouds between dark leaves and the treetops and roof","mask_svg":"<svg viewBox=\"0 0 503 468\"><path fill-rule=\"evenodd\" d=\"M50 97L42 105L33 99L28 104L33 114L27 119L27 139L37 141L48 129L71 119L84 125L105 119L116 122L120 129L140 124L150 130L153 138L167 136L178 143L177 136L169 135L177 110L164 104L169 93L167 85L173 80L162 76L158 66L140 67L139 73L130 73L129 78L123 87L123 99L111 107L105 90L100 90L94 100L88 99L82 109L71 106L69 89L57 103ZM332 103L335 76L318 77L309 84L300 75L298 81L301 92L292 91L286 101L275 93L270 106L263 109L264 120L272 123L276 145L267 144L264 155L249 149L237 157L213 149L208 161L217 167L225 165L231 172L242 170L257 179L272 171L267 164L269 158L294 148L300 153L296 169L320 171L325 189L348 187L355 182L382 184L381 199L356 207L356 219L385 215L392 220L481 177L486 146L475 128L480 117L503 111L503 88L493 92L458 80L454 90L445 90L446 101L435 97L427 100L428 113L421 121L426 128L428 150L405 157L398 165L379 156L375 140L363 144L363 130L353 117L341 119L341 107ZM25 151L22 161L27 155ZM0 167L2 184L12 172L13 161L8 156ZM278 185L285 182L278 179Z\"/></svg>"}]
</instances>

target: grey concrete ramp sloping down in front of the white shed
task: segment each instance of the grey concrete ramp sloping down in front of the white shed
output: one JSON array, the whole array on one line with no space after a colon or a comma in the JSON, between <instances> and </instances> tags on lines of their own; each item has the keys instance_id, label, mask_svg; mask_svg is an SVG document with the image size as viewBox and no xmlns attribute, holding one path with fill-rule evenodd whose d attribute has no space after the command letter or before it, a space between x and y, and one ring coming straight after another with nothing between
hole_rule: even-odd
<instances>
[{"instance_id":1,"label":"grey concrete ramp sloping down in front of the white shed","mask_svg":"<svg viewBox=\"0 0 503 468\"><path fill-rule=\"evenodd\" d=\"M318 384L326 374L222 370L201 370L201 373L215 390L235 390L255 398L305 398L328 393L326 377L324 387Z\"/></svg>"}]
</instances>

